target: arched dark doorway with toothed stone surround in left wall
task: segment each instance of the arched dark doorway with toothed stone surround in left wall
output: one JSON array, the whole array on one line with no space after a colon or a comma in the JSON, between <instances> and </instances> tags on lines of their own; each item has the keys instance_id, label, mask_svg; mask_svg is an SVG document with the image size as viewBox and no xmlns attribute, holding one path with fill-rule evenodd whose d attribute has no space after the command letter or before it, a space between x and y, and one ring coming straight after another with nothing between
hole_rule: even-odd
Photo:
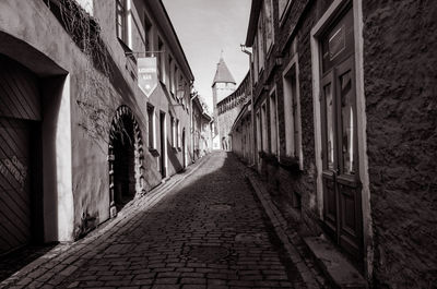
<instances>
[{"instance_id":1,"label":"arched dark doorway with toothed stone surround in left wall","mask_svg":"<svg viewBox=\"0 0 437 289\"><path fill-rule=\"evenodd\" d=\"M128 106L120 106L113 118L108 155L109 209L115 217L127 203L145 194L143 139Z\"/></svg>"}]
</instances>

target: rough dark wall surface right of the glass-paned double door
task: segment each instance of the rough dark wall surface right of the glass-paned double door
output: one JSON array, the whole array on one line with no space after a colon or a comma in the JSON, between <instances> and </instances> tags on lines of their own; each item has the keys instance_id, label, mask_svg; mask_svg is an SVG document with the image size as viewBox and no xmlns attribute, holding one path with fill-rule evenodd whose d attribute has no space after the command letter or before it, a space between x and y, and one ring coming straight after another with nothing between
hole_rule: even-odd
<instances>
[{"instance_id":1,"label":"rough dark wall surface right of the glass-paned double door","mask_svg":"<svg viewBox=\"0 0 437 289\"><path fill-rule=\"evenodd\" d=\"M364 77L381 288L437 284L437 7L363 1Z\"/></svg>"}]
</instances>

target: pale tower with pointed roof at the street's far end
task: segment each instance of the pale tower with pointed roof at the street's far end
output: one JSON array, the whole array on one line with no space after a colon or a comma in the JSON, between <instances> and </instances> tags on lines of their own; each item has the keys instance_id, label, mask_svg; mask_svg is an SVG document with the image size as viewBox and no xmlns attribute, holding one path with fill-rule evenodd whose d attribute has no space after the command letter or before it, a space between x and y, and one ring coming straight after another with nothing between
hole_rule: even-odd
<instances>
[{"instance_id":1,"label":"pale tower with pointed roof at the street's far end","mask_svg":"<svg viewBox=\"0 0 437 289\"><path fill-rule=\"evenodd\" d=\"M218 121L218 110L217 104L226 98L228 95L234 93L236 89L236 82L232 75L229 69L227 68L223 56L221 56L217 63L217 70L215 71L215 76L212 82L212 101L213 101L213 115L214 115L214 134L213 134L213 148L221 148L221 137L220 137L220 121Z\"/></svg>"}]
</instances>

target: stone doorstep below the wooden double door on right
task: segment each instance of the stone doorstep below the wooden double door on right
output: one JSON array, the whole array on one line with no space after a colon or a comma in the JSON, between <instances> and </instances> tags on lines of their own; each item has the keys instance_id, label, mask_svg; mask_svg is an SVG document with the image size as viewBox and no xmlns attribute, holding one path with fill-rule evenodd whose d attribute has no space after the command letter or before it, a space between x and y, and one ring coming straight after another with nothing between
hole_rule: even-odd
<instances>
[{"instance_id":1,"label":"stone doorstep below the wooden double door on right","mask_svg":"<svg viewBox=\"0 0 437 289\"><path fill-rule=\"evenodd\" d=\"M368 288L366 279L329 240L307 237L304 242L334 288Z\"/></svg>"}]
</instances>

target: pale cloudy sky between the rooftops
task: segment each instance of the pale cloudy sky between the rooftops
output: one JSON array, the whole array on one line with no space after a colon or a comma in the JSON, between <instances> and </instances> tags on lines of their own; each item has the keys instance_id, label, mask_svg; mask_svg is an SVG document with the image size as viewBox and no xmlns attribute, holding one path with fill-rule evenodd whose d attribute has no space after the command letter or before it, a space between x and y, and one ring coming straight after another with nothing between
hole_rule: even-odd
<instances>
[{"instance_id":1,"label":"pale cloudy sky between the rooftops","mask_svg":"<svg viewBox=\"0 0 437 289\"><path fill-rule=\"evenodd\" d=\"M194 87L212 111L212 81L223 57L237 85L249 70L246 40L250 0L163 0L194 74Z\"/></svg>"}]
</instances>

